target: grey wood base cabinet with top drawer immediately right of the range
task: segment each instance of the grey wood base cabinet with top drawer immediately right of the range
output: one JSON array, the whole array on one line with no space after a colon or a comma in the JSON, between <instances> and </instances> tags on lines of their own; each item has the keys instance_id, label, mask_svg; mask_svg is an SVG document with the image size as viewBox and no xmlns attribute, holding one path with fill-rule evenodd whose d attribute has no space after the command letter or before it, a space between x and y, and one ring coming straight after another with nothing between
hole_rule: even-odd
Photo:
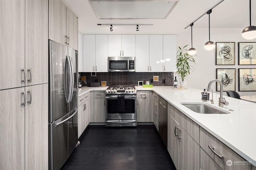
<instances>
[{"instance_id":1,"label":"grey wood base cabinet with top drawer immediately right of the range","mask_svg":"<svg viewBox=\"0 0 256 170\"><path fill-rule=\"evenodd\" d=\"M150 91L137 91L137 122L150 121Z\"/></svg>"}]
</instances>

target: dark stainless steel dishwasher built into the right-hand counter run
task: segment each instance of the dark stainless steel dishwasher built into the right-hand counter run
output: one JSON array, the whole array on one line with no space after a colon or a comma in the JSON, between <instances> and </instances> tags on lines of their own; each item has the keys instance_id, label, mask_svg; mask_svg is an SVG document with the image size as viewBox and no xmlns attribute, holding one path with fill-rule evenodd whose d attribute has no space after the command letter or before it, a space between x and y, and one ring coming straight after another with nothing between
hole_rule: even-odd
<instances>
[{"instance_id":1,"label":"dark stainless steel dishwasher built into the right-hand counter run","mask_svg":"<svg viewBox=\"0 0 256 170\"><path fill-rule=\"evenodd\" d=\"M158 99L158 132L167 148L167 102L159 96Z\"/></svg>"}]
</instances>

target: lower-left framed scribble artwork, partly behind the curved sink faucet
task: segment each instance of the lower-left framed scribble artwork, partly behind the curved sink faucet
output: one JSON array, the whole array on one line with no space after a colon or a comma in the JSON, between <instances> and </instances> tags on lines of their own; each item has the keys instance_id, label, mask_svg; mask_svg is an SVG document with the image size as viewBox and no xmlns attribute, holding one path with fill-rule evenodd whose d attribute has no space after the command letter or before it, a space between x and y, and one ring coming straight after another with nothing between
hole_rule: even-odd
<instances>
[{"instance_id":1,"label":"lower-left framed scribble artwork, partly behind the curved sink faucet","mask_svg":"<svg viewBox=\"0 0 256 170\"><path fill-rule=\"evenodd\" d=\"M223 84L223 91L236 91L236 68L217 68L216 78ZM217 82L216 91L220 91Z\"/></svg>"}]
</instances>

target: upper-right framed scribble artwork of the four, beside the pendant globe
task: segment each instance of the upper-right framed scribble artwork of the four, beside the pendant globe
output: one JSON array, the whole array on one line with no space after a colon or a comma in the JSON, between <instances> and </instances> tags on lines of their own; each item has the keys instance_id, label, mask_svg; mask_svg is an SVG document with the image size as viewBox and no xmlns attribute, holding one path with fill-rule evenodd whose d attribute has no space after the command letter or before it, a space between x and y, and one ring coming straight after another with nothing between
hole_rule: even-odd
<instances>
[{"instance_id":1,"label":"upper-right framed scribble artwork of the four, beside the pendant globe","mask_svg":"<svg viewBox=\"0 0 256 170\"><path fill-rule=\"evenodd\" d=\"M238 64L256 64L256 42L238 43Z\"/></svg>"}]
</instances>

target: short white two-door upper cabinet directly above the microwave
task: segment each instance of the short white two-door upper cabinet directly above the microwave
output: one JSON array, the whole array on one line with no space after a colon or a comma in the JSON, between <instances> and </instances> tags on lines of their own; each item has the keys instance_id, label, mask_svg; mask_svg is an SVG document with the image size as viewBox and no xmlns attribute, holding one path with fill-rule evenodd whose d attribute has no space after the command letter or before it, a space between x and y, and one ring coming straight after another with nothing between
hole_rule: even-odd
<instances>
[{"instance_id":1,"label":"short white two-door upper cabinet directly above the microwave","mask_svg":"<svg viewBox=\"0 0 256 170\"><path fill-rule=\"evenodd\" d=\"M135 35L108 35L108 57L134 57Z\"/></svg>"}]
</instances>

